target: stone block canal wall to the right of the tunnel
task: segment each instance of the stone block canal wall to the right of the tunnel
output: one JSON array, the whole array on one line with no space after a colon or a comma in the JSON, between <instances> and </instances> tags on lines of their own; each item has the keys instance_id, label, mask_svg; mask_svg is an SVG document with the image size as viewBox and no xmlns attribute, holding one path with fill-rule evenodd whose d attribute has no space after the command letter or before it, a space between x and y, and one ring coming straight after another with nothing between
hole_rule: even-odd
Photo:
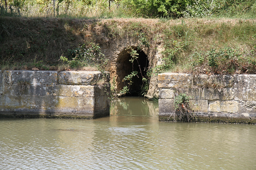
<instances>
[{"instance_id":1,"label":"stone block canal wall to the right of the tunnel","mask_svg":"<svg viewBox=\"0 0 256 170\"><path fill-rule=\"evenodd\" d=\"M256 123L256 75L158 74L159 120L176 121L174 98L189 97L198 122Z\"/></svg>"}]
</instances>

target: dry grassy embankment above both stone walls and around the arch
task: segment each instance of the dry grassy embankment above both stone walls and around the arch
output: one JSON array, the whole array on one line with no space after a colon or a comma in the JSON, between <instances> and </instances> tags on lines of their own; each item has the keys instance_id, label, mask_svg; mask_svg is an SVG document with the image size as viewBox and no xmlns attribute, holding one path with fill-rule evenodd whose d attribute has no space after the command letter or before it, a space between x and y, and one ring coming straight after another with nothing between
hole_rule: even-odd
<instances>
[{"instance_id":1,"label":"dry grassy embankment above both stone walls and around the arch","mask_svg":"<svg viewBox=\"0 0 256 170\"><path fill-rule=\"evenodd\" d=\"M0 18L0 69L64 70L92 64L98 45L135 36L151 48L162 43L164 63L154 72L256 72L256 20ZM81 46L84 45L84 46ZM89 53L91 60L81 58ZM94 55L96 53L96 55ZM63 62L60 57L70 62ZM74 59L75 58L75 59ZM72 60L73 59L73 60ZM74 62L73 62L74 61ZM101 66L104 66L104 60ZM98 69L98 68L91 68Z\"/></svg>"}]
</instances>

